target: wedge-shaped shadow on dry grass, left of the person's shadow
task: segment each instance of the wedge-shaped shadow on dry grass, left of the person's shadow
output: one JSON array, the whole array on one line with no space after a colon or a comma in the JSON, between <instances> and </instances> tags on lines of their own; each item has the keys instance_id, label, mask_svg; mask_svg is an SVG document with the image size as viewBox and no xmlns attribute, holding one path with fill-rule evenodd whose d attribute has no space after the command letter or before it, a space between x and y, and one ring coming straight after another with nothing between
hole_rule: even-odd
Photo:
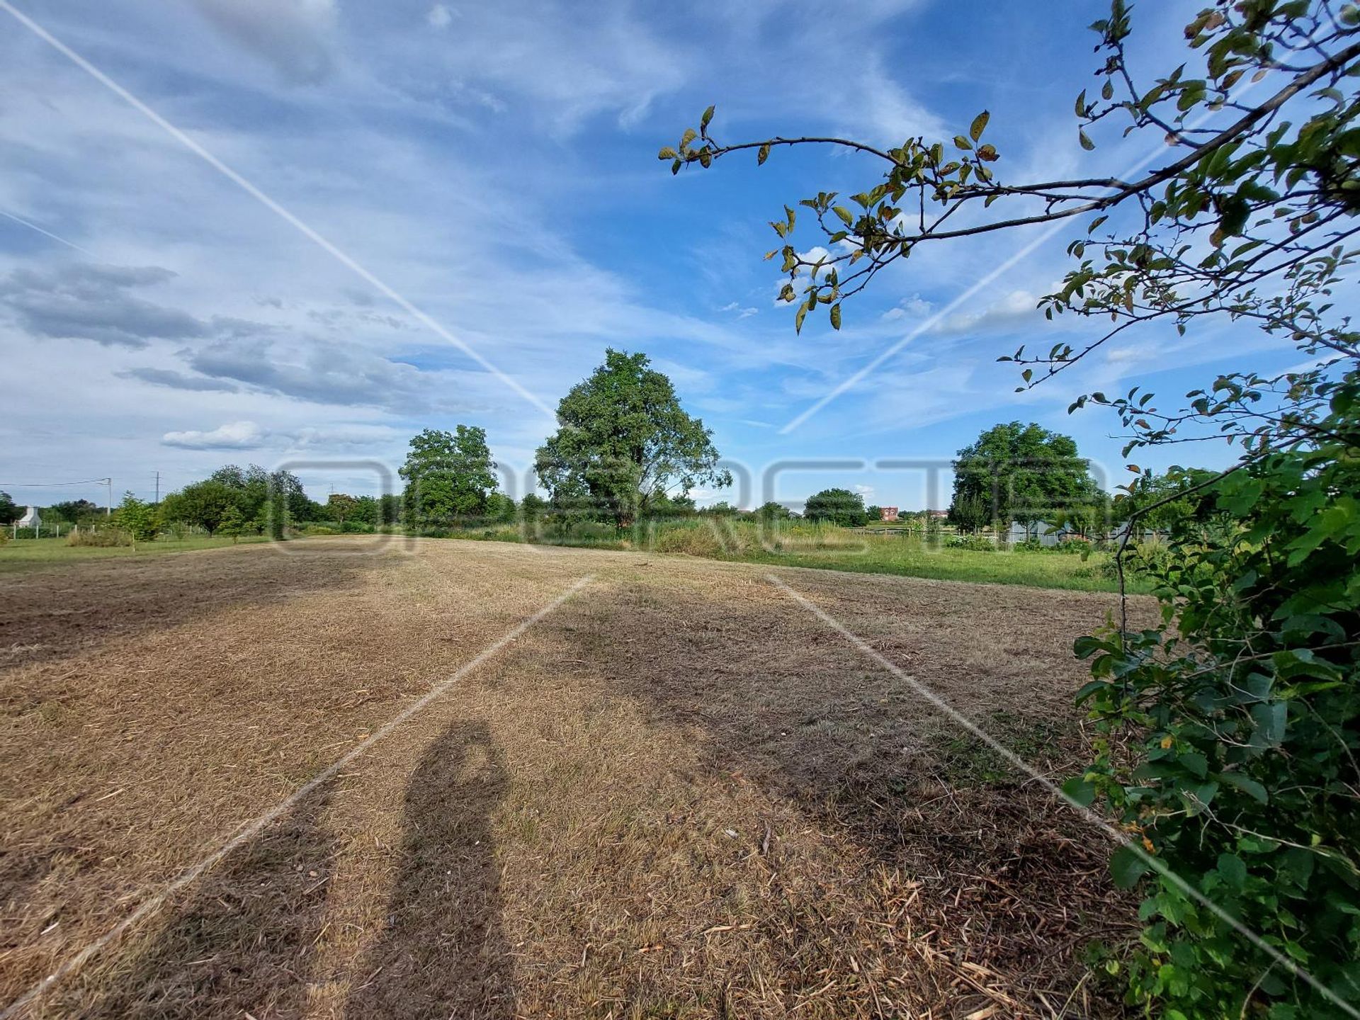
<instances>
[{"instance_id":1,"label":"wedge-shaped shadow on dry grass, left of the person's shadow","mask_svg":"<svg viewBox=\"0 0 1360 1020\"><path fill-rule=\"evenodd\" d=\"M332 786L302 798L167 903L135 938L52 1001L80 1017L301 1016L337 843Z\"/></svg>"}]
</instances>

